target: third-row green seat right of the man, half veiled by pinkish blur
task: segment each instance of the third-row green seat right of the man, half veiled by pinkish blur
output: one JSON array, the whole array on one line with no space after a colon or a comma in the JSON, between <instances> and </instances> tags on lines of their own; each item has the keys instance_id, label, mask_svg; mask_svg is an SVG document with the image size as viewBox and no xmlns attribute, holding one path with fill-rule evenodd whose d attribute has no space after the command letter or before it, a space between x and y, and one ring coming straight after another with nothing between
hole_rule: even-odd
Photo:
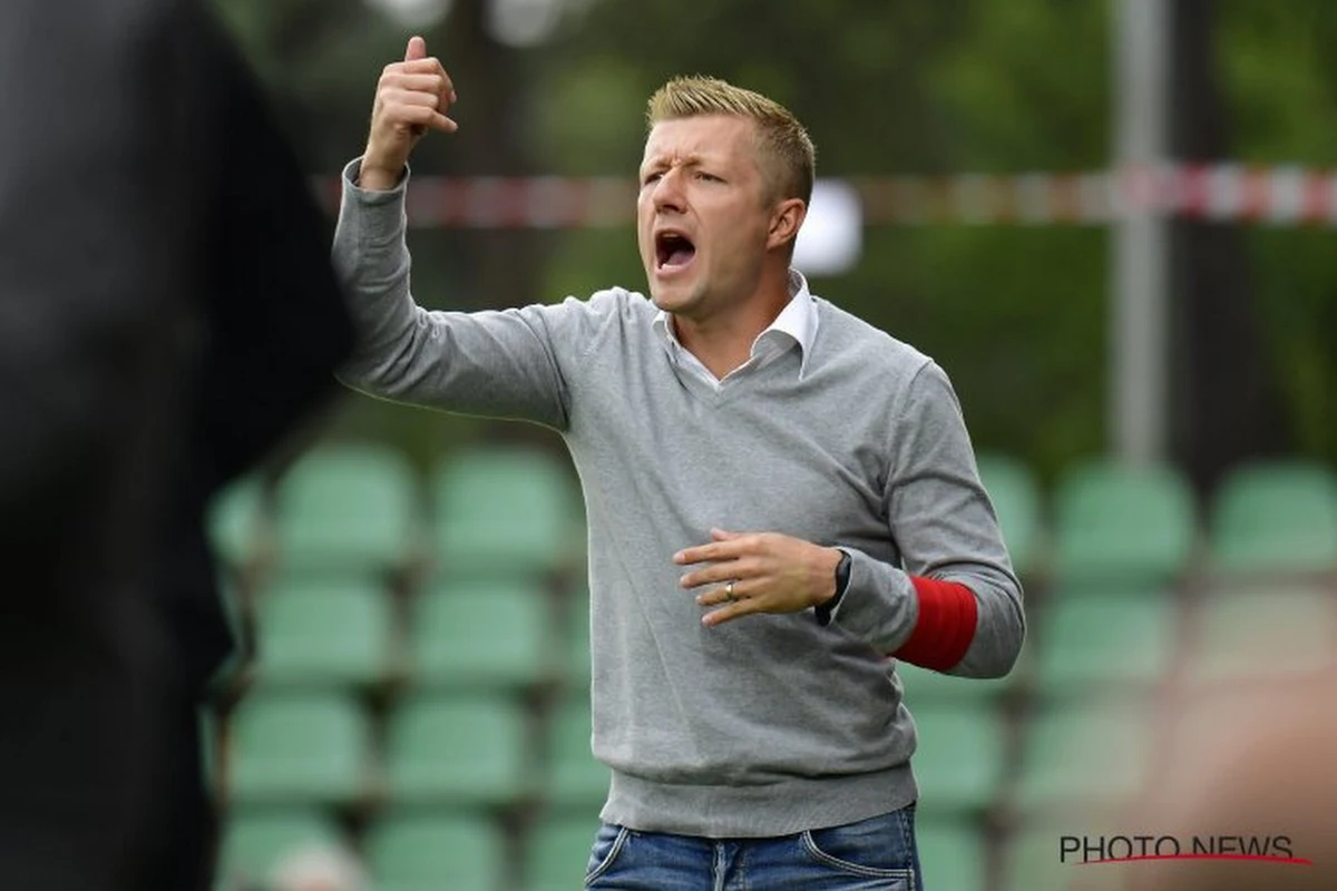
<instances>
[{"instance_id":1,"label":"third-row green seat right of the man, half veiled by pinkish blur","mask_svg":"<svg viewBox=\"0 0 1337 891\"><path fill-rule=\"evenodd\" d=\"M1013 804L1028 812L1124 804L1144 789L1152 733L1138 700L1046 707L1027 724Z\"/></svg>"}]
</instances>

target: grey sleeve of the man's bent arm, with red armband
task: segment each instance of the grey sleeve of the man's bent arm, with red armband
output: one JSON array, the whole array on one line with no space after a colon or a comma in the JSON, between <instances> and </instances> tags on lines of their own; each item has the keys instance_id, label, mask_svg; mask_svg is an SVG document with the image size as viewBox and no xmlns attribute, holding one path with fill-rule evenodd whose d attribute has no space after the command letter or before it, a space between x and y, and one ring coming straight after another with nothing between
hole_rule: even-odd
<instances>
[{"instance_id":1,"label":"grey sleeve of the man's bent arm, with red armband","mask_svg":"<svg viewBox=\"0 0 1337 891\"><path fill-rule=\"evenodd\" d=\"M1021 585L956 393L932 362L906 389L892 450L884 501L901 565L845 548L849 586L833 621L905 661L1001 677L1025 636Z\"/></svg>"}]
</instances>

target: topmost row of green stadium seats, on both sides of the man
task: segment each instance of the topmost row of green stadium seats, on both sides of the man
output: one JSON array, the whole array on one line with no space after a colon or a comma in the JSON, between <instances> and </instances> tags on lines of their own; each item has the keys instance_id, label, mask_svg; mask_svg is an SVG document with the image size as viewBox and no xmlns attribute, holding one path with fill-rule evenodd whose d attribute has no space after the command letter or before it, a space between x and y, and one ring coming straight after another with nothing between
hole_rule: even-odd
<instances>
[{"instance_id":1,"label":"topmost row of green stadium seats, on both sides of the man","mask_svg":"<svg viewBox=\"0 0 1337 891\"><path fill-rule=\"evenodd\" d=\"M1060 584L1163 582L1199 552L1217 574L1337 570L1337 474L1321 465L1242 466L1210 510L1167 466L1082 462L1047 500L1019 461L981 454L979 465L1019 569ZM524 448L456 454L420 486L397 452L326 445L273 492L257 480L230 490L213 524L233 562L267 544L285 569L322 573L392 566L417 546L457 576L562 570L579 568L583 538L566 462Z\"/></svg>"}]
</instances>

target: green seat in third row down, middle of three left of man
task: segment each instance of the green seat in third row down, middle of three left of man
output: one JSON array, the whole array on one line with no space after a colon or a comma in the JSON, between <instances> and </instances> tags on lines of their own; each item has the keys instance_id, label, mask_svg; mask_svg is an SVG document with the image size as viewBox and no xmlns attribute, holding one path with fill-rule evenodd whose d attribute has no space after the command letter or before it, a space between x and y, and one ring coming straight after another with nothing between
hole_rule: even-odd
<instances>
[{"instance_id":1,"label":"green seat in third row down, middle of three left of man","mask_svg":"<svg viewBox=\"0 0 1337 891\"><path fill-rule=\"evenodd\" d=\"M508 697L413 697L390 716L386 769L400 804L513 804L532 791L524 713Z\"/></svg>"}]
</instances>

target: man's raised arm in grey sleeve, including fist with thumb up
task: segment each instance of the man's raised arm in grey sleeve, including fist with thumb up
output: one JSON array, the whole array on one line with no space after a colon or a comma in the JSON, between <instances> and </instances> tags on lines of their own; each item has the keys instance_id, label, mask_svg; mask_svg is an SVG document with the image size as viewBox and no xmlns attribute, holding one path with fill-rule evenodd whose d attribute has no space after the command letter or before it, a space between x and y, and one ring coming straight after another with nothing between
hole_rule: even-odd
<instances>
[{"instance_id":1,"label":"man's raised arm in grey sleeve, including fist with thumb up","mask_svg":"<svg viewBox=\"0 0 1337 891\"><path fill-rule=\"evenodd\" d=\"M344 171L334 266L356 331L348 386L448 411L567 425L567 385L558 346L578 309L527 306L487 313L431 313L409 285L404 195L408 158L428 130L453 132L445 116L455 87L421 37L386 65L362 158Z\"/></svg>"}]
</instances>

